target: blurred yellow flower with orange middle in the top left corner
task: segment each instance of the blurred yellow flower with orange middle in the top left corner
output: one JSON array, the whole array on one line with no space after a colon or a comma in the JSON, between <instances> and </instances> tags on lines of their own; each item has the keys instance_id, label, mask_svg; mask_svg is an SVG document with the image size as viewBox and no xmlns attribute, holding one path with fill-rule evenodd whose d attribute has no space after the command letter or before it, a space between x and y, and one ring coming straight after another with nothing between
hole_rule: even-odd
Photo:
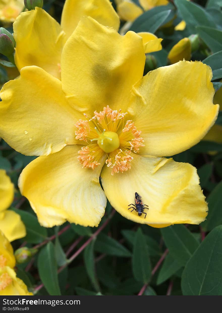
<instances>
[{"instance_id":1,"label":"blurred yellow flower with orange middle in the top left corner","mask_svg":"<svg viewBox=\"0 0 222 313\"><path fill-rule=\"evenodd\" d=\"M0 21L13 23L24 9L24 0L0 0Z\"/></svg>"}]
</instances>

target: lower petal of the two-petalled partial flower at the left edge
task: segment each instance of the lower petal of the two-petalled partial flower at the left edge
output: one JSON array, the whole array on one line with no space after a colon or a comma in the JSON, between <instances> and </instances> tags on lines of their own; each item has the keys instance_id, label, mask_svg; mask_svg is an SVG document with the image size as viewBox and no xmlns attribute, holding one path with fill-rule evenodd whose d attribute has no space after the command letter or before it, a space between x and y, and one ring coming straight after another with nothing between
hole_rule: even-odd
<instances>
[{"instance_id":1,"label":"lower petal of the two-petalled partial flower at the left edge","mask_svg":"<svg viewBox=\"0 0 222 313\"><path fill-rule=\"evenodd\" d=\"M20 215L12 210L5 210L0 216L0 230L9 241L13 241L26 236L24 223Z\"/></svg>"}]
</instances>

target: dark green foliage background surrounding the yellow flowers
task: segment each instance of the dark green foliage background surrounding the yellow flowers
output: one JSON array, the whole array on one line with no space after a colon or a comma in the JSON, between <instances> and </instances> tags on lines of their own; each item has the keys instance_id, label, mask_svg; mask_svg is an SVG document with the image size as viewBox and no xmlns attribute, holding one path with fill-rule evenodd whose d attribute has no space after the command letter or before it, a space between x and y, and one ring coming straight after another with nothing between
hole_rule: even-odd
<instances>
[{"instance_id":1,"label":"dark green foliage background surrounding the yellow flowers","mask_svg":"<svg viewBox=\"0 0 222 313\"><path fill-rule=\"evenodd\" d=\"M222 77L222 1L193 2L203 10L177 11L174 25L181 19L191 23L187 23L184 31L157 30L156 35L164 39L163 50L152 55L158 66L165 66L174 44L191 33L199 33L205 49L193 54L192 60L203 61L212 55L204 62L210 62L207 64L213 69L214 87L219 89L222 85L219 83ZM48 0L44 8L60 21L63 3ZM177 3L180 8L178 0ZM155 12L153 9L149 14L155 15ZM176 9L173 15L175 13ZM206 14L215 24L210 26L210 33L204 28L210 25ZM135 21L131 29L137 31L141 27L143 31L150 31L149 19L143 24ZM213 53L219 53L217 58ZM0 79L2 83L8 80L3 67ZM216 123L222 126L221 114ZM209 214L200 225L174 225L163 229L133 223L115 213L109 203L98 229L69 223L61 227L41 227L17 186L20 172L33 159L0 141L0 168L7 171L16 187L12 208L21 215L27 228L27 236L14 241L13 248L38 249L33 258L17 264L17 275L30 291L38 295L222 295L219 280L222 275L222 144L201 141L173 156L177 162L189 162L197 167Z\"/></svg>"}]
</instances>

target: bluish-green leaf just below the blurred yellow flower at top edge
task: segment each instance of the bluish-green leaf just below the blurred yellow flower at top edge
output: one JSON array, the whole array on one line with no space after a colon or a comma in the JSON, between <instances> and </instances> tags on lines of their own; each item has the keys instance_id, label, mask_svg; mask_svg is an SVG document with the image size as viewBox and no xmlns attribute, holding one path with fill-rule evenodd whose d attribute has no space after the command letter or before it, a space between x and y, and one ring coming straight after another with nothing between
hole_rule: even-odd
<instances>
[{"instance_id":1,"label":"bluish-green leaf just below the blurred yellow flower at top edge","mask_svg":"<svg viewBox=\"0 0 222 313\"><path fill-rule=\"evenodd\" d=\"M169 22L175 14L172 6L159 6L141 14L131 25L130 30L139 32L155 33L163 24Z\"/></svg>"}]
</instances>

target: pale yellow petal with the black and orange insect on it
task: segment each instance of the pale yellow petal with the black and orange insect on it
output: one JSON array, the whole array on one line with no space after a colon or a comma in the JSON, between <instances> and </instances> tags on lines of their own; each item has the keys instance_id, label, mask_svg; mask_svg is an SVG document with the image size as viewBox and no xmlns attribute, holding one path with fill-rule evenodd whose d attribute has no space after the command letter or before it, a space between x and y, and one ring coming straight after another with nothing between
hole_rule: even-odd
<instances>
[{"instance_id":1,"label":"pale yellow petal with the black and orange insect on it","mask_svg":"<svg viewBox=\"0 0 222 313\"><path fill-rule=\"evenodd\" d=\"M172 159L134 155L131 169L111 176L111 169L103 167L101 173L104 192L111 205L125 218L153 227L171 224L199 224L208 210L199 185L195 167ZM149 206L147 213L129 209L135 203L135 192Z\"/></svg>"}]
</instances>

